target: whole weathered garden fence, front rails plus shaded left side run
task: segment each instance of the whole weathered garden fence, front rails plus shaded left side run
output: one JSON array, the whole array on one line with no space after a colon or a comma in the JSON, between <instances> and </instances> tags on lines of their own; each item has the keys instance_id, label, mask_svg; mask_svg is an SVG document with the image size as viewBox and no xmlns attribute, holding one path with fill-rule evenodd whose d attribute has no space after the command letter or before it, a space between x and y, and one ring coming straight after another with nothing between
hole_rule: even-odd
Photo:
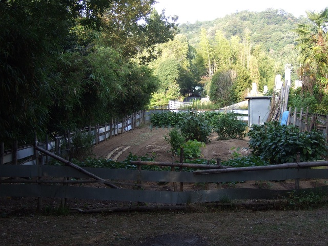
<instances>
[{"instance_id":1,"label":"whole weathered garden fence, front rails plus shaded left side run","mask_svg":"<svg viewBox=\"0 0 328 246\"><path fill-rule=\"evenodd\" d=\"M147 111L131 115L121 122L113 119L113 124L105 124L104 127L95 126L95 136L97 141L105 141L106 138L133 129L139 124L150 120L150 115L156 111ZM294 113L297 116L297 113ZM302 115L302 114L300 114ZM293 115L291 114L291 119ZM135 120L134 120L135 119ZM290 119L290 120L291 120ZM294 119L293 119L294 120ZM301 122L302 120L300 120ZM296 119L297 122L297 119ZM70 133L67 134L70 136ZM106 137L105 137L106 136ZM300 179L327 179L328 169L305 168L301 163L296 163L297 168L279 169L275 165L274 170L254 170L245 169L232 171L233 169L217 169L211 172L187 172L182 171L182 166L178 163L169 163L172 171L146 171L123 170L123 169L101 169L85 168L83 172L74 166L49 166L46 156L42 153L56 152L56 141L46 141L30 145L24 148L14 147L14 151L1 151L1 163L29 164L29 165L0 165L0 196L13 197L38 197L38 201L43 197L64 198L64 199L99 199L111 201L131 201L149 202L165 204L181 204L190 202L217 202L227 199L277 199L288 195L292 190L271 190L271 189L221 189L222 182L241 182L241 181L270 181L270 180L289 180L295 179L295 189L299 188ZM57 143L57 146L59 144ZM16 154L13 154L16 153ZM39 157L42 157L41 159ZM32 160L31 160L32 158ZM34 159L33 159L34 158ZM41 161L39 161L41 160ZM22 163L23 162L23 163ZM68 162L64 162L66 165ZM328 162L311 162L312 166L327 166ZM38 164L38 165L32 165ZM174 165L178 165L174 168ZM161 166L161 165L160 165ZM165 166L162 164L162 166ZM208 168L208 167L206 167ZM218 168L218 167L216 167ZM8 179L8 177L14 177ZM19 178L24 177L24 178ZM92 177L92 178L90 178ZM147 190L145 182L169 182L173 187L172 191ZM90 183L109 185L103 188L88 186ZM180 183L180 189L177 189ZM202 190L185 190L183 183L204 183ZM212 185L209 185L211 184ZM316 190L319 188L306 189ZM301 191L304 191L302 189ZM328 191L327 186L320 187L321 191ZM39 203L38 203L39 204Z\"/></svg>"}]
</instances>

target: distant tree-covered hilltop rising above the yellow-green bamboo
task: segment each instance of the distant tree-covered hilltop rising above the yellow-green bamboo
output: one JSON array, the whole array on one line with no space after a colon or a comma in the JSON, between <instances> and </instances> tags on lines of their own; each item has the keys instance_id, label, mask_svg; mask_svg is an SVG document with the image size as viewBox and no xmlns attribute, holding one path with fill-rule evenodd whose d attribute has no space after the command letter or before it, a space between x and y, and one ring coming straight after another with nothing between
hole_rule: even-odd
<instances>
[{"instance_id":1,"label":"distant tree-covered hilltop rising above the yellow-green bamboo","mask_svg":"<svg viewBox=\"0 0 328 246\"><path fill-rule=\"evenodd\" d=\"M305 13L304 13L305 14ZM296 18L282 9L267 9L262 12L248 10L233 13L210 22L182 24L180 33L186 35L189 44L196 49L201 48L201 33L206 30L209 42L215 43L217 32L221 32L230 42L238 40L248 45L256 56L259 51L275 61L275 74L284 74L284 64L297 67L296 29L298 23L305 21L304 17ZM293 71L292 80L298 79Z\"/></svg>"}]
</instances>

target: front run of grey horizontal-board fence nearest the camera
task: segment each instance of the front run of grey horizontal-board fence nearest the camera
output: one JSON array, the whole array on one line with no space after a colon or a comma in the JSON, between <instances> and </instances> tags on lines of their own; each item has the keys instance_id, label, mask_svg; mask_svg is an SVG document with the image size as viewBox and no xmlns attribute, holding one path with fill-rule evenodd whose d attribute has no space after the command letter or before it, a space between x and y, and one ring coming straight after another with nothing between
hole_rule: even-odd
<instances>
[{"instance_id":1,"label":"front run of grey horizontal-board fence nearest the camera","mask_svg":"<svg viewBox=\"0 0 328 246\"><path fill-rule=\"evenodd\" d=\"M328 162L311 162L312 166L327 166ZM297 163L296 163L297 164ZM175 163L179 165L179 163ZM81 173L69 166L49 165L1 165L0 176L16 177L15 179L0 180L0 196L14 197L52 197L78 198L111 201L150 202L165 204L181 204L190 202L217 202L233 199L278 199L286 196L292 190L270 189L220 189L221 182L237 182L248 180L288 180L288 179L327 179L328 169L287 168L275 170L235 171L233 169L216 169L219 172L206 171L146 171L85 168L87 172L101 177L102 180L90 179L90 175ZM258 168L258 167L257 167ZM25 177L24 179L18 177ZM69 179L63 179L69 177ZM86 183L111 182L122 189L88 187ZM216 186L205 185L203 190L178 191L147 190L143 182L171 182L167 186L174 187L174 183L214 183ZM302 182L302 181L301 181ZM295 182L297 183L297 182ZM182 187L182 188L181 188ZM212 188L211 188L212 187ZM296 187L297 188L297 187ZM300 191L314 191L302 189ZM173 189L172 189L173 190ZM328 191L327 186L320 187L321 191Z\"/></svg>"}]
</instances>

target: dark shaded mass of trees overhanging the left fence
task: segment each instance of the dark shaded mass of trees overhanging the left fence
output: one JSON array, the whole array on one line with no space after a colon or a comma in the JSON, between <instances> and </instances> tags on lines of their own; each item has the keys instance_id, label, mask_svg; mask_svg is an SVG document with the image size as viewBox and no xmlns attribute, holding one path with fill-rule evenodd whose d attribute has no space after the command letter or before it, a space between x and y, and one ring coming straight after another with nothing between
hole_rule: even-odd
<instances>
[{"instance_id":1,"label":"dark shaded mass of trees overhanging the left fence","mask_svg":"<svg viewBox=\"0 0 328 246\"><path fill-rule=\"evenodd\" d=\"M31 141L145 108L172 39L153 0L0 1L0 139ZM142 56L142 51L148 56ZM136 59L138 58L138 59Z\"/></svg>"}]
</instances>

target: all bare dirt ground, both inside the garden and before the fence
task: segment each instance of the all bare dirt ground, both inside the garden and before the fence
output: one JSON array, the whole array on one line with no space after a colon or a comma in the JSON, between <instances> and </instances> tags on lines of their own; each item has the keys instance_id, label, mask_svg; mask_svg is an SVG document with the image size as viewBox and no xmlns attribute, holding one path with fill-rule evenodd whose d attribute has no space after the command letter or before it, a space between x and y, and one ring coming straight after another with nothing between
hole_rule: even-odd
<instances>
[{"instance_id":1,"label":"all bare dirt ground, both inside the garden and before the fence","mask_svg":"<svg viewBox=\"0 0 328 246\"><path fill-rule=\"evenodd\" d=\"M168 129L141 127L101 143L94 153L116 160L124 160L129 152L138 156L156 153L156 161L172 161L170 146L163 137L167 133ZM226 160L237 153L248 154L247 139L218 141L212 135L202 158ZM318 180L312 182L320 185ZM247 185L293 189L288 182L270 183L270 187L259 182ZM311 183L303 180L301 186ZM37 198L0 197L1 245L328 245L326 206L307 211L258 211L190 204L181 210L85 214L78 211L126 204L69 199L66 214L58 211L58 199L44 199L43 203L48 204L46 210L38 214Z\"/></svg>"}]
</instances>

